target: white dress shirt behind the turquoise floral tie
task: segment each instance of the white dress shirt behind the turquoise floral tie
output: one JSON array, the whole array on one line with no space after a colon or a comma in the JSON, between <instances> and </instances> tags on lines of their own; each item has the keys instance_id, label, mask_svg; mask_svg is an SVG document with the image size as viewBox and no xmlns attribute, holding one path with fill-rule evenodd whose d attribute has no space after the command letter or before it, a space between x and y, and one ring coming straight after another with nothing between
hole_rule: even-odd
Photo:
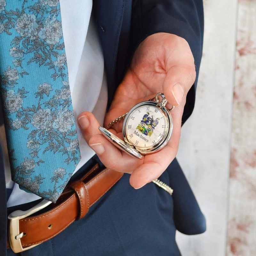
<instances>
[{"instance_id":1,"label":"white dress shirt behind the turquoise floral tie","mask_svg":"<svg viewBox=\"0 0 256 256\"><path fill-rule=\"evenodd\" d=\"M103 124L108 100L107 79L104 72L103 53L91 12L92 0L60 0L62 31L75 120L80 112L91 111L100 124ZM76 130L81 161L76 166L75 172L95 154L85 142L77 122ZM19 185L11 180L4 125L0 126L0 142L4 151L6 188L12 188L7 207L39 199L39 196L21 190Z\"/></svg>"}]
</instances>

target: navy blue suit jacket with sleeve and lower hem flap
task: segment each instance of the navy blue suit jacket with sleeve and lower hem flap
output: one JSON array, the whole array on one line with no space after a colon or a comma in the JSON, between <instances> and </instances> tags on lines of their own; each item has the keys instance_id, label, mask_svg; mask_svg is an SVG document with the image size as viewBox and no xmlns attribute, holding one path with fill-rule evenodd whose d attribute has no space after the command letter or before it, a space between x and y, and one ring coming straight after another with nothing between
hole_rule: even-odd
<instances>
[{"instance_id":1,"label":"navy blue suit jacket with sleeve and lower hem flap","mask_svg":"<svg viewBox=\"0 0 256 256\"><path fill-rule=\"evenodd\" d=\"M132 54L140 42L157 32L185 38L193 52L196 82L187 95L183 123L191 115L202 56L202 0L94 0L93 12L98 24L108 79L108 106L124 77ZM173 221L185 234L205 230L205 219L176 159L168 167L164 179L174 189ZM165 180L166 181L166 180ZM0 146L0 253L6 251L6 195L2 148ZM154 254L153 255L157 255Z\"/></svg>"}]
</instances>

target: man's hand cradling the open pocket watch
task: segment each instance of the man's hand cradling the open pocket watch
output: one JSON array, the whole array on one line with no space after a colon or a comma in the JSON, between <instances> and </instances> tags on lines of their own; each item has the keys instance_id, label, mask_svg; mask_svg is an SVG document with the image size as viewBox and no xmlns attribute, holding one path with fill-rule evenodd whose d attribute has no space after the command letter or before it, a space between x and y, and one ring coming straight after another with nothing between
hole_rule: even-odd
<instances>
[{"instance_id":1,"label":"man's hand cradling the open pocket watch","mask_svg":"<svg viewBox=\"0 0 256 256\"><path fill-rule=\"evenodd\" d=\"M160 151L146 155L140 160L111 144L98 130L100 124L92 113L82 112L77 119L83 130L84 139L106 167L118 172L131 173L132 187L140 188L155 180L177 154L186 95L195 77L194 58L185 39L168 33L148 36L133 55L124 80L117 88L104 125L107 126L135 104L163 92L170 104L176 106L171 112L171 140ZM109 131L123 139L122 123L115 124Z\"/></svg>"}]
</instances>

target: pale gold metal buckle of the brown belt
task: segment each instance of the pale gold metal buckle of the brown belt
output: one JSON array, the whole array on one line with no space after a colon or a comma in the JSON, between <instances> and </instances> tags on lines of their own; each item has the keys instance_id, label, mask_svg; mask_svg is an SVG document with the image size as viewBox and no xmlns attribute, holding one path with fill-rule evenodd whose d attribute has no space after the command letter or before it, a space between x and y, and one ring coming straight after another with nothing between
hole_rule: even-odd
<instances>
[{"instance_id":1,"label":"pale gold metal buckle of the brown belt","mask_svg":"<svg viewBox=\"0 0 256 256\"><path fill-rule=\"evenodd\" d=\"M12 248L12 251L15 253L18 252L24 252L27 251L33 247L35 247L38 244L33 244L31 246L22 247L20 238L24 236L24 233L20 233L20 227L19 227L19 220L26 218L35 212L38 212L42 209L44 209L46 206L51 204L51 201L48 201L46 199L42 200L39 204L35 205L34 207L28 209L27 211L21 211L17 210L9 214L8 220L9 220L9 242L10 247ZM41 244L41 243L39 243Z\"/></svg>"}]
</instances>

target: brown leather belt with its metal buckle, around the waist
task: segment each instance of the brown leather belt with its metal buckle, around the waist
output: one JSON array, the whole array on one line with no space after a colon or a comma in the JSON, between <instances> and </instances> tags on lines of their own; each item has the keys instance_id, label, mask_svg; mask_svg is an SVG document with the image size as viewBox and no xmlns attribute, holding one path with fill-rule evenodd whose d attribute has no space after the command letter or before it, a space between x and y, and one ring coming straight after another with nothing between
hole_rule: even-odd
<instances>
[{"instance_id":1,"label":"brown leather belt with its metal buckle, around the waist","mask_svg":"<svg viewBox=\"0 0 256 256\"><path fill-rule=\"evenodd\" d=\"M15 211L9 216L9 241L14 252L28 250L58 235L75 220L80 220L89 211L90 206L103 196L123 173L104 169L99 172L96 164L80 180L73 181L62 192L53 208L39 215L35 212L50 203L43 200L28 211ZM27 217L29 216L29 217ZM7 248L10 248L7 239Z\"/></svg>"}]
</instances>

